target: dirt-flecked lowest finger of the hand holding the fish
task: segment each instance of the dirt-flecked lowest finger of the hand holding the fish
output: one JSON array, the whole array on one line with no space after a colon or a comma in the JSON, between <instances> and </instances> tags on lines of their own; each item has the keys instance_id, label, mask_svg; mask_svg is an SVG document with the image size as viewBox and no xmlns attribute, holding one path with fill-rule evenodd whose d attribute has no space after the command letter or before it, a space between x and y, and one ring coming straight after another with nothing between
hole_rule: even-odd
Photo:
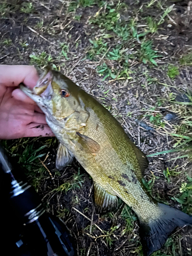
<instances>
[{"instance_id":1,"label":"dirt-flecked lowest finger of the hand holding the fish","mask_svg":"<svg viewBox=\"0 0 192 256\"><path fill-rule=\"evenodd\" d=\"M47 124L30 123L23 137L55 137Z\"/></svg>"}]
</instances>

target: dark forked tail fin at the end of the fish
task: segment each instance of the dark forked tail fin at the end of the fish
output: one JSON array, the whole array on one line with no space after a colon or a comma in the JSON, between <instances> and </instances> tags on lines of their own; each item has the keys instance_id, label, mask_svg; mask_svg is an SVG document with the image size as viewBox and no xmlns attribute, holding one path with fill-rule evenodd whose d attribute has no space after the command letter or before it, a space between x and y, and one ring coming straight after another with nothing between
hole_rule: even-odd
<instances>
[{"instance_id":1,"label":"dark forked tail fin at the end of the fish","mask_svg":"<svg viewBox=\"0 0 192 256\"><path fill-rule=\"evenodd\" d=\"M160 219L151 223L140 222L141 244L146 256L160 249L176 227L192 225L192 216L165 204L158 203L158 206L162 210Z\"/></svg>"}]
</instances>

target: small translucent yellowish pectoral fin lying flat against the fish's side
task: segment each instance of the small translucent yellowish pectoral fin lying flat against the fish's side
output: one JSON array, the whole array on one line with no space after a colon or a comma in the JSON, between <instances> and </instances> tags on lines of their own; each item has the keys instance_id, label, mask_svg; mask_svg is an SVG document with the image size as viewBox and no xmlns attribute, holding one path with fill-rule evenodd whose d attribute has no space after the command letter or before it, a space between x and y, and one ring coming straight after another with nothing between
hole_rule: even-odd
<instances>
[{"instance_id":1,"label":"small translucent yellowish pectoral fin lying flat against the fish's side","mask_svg":"<svg viewBox=\"0 0 192 256\"><path fill-rule=\"evenodd\" d=\"M99 144L92 140L91 138L82 135L80 133L76 133L79 137L78 142L82 145L83 149L86 150L88 153L97 153L100 150Z\"/></svg>"}]
</instances>

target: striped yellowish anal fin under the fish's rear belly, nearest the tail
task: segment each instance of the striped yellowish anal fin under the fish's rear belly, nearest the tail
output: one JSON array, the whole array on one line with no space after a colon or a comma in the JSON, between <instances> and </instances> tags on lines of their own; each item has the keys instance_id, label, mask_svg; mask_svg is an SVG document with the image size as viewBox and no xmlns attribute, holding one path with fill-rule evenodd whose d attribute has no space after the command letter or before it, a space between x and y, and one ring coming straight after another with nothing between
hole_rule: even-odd
<instances>
[{"instance_id":1,"label":"striped yellowish anal fin under the fish's rear belly, nearest the tail","mask_svg":"<svg viewBox=\"0 0 192 256\"><path fill-rule=\"evenodd\" d=\"M95 203L99 206L100 212L112 211L118 205L117 196L112 195L109 191L106 191L96 182L94 183Z\"/></svg>"}]
</instances>

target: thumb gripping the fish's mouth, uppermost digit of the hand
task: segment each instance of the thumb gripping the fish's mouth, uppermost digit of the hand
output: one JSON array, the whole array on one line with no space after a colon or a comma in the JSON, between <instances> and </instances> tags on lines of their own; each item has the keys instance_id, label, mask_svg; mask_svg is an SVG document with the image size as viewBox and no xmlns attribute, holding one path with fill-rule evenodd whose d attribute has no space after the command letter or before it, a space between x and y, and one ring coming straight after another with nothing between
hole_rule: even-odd
<instances>
[{"instance_id":1,"label":"thumb gripping the fish's mouth, uppermost digit of the hand","mask_svg":"<svg viewBox=\"0 0 192 256\"><path fill-rule=\"evenodd\" d=\"M39 76L33 66L25 65L0 65L0 85L18 86L23 82L27 87L33 88Z\"/></svg>"}]
</instances>

